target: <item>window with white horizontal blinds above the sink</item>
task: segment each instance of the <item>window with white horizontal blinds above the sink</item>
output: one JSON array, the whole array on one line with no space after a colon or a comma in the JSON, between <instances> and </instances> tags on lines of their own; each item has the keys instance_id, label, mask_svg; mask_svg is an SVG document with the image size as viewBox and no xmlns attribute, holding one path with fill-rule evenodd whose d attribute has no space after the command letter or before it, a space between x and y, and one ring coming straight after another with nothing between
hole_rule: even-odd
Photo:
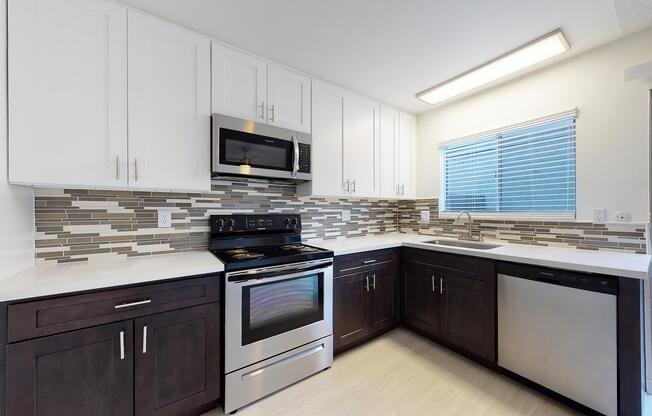
<instances>
[{"instance_id":1,"label":"window with white horizontal blinds above the sink","mask_svg":"<svg viewBox=\"0 0 652 416\"><path fill-rule=\"evenodd\" d=\"M576 113L444 143L442 212L575 216Z\"/></svg>"}]
</instances>

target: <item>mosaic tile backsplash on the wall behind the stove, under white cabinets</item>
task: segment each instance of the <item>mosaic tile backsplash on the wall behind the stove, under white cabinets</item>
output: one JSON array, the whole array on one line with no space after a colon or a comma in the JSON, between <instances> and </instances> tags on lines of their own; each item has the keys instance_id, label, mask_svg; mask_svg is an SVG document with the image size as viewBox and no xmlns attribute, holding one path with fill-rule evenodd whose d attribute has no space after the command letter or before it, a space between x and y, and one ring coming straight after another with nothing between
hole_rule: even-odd
<instances>
[{"instance_id":1,"label":"mosaic tile backsplash on the wall behind the stove, under white cabinets","mask_svg":"<svg viewBox=\"0 0 652 416\"><path fill-rule=\"evenodd\" d=\"M172 228L158 228L159 209ZM299 198L294 184L257 180L216 180L208 193L37 189L35 212L36 258L60 263L207 250L212 214L300 213L306 240L398 231L397 201Z\"/></svg>"}]
</instances>

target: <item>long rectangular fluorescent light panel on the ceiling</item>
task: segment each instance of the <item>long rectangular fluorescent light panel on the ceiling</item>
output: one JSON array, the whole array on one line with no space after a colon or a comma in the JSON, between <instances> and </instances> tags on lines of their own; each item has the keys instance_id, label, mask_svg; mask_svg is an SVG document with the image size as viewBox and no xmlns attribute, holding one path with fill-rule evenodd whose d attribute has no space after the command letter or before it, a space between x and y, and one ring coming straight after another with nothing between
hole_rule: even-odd
<instances>
[{"instance_id":1,"label":"long rectangular fluorescent light panel on the ceiling","mask_svg":"<svg viewBox=\"0 0 652 416\"><path fill-rule=\"evenodd\" d=\"M557 30L456 78L420 92L417 98L429 104L437 104L538 64L569 49L566 37L561 30Z\"/></svg>"}]
</instances>

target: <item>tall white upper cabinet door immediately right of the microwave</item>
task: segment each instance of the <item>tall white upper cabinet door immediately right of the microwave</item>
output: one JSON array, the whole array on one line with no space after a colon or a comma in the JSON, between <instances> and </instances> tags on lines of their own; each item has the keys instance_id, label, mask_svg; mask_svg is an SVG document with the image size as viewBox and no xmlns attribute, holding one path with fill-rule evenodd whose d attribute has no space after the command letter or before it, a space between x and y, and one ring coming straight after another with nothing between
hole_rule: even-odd
<instances>
[{"instance_id":1,"label":"tall white upper cabinet door immediately right of the microwave","mask_svg":"<svg viewBox=\"0 0 652 416\"><path fill-rule=\"evenodd\" d=\"M342 196L344 91L312 83L312 195Z\"/></svg>"}]
</instances>

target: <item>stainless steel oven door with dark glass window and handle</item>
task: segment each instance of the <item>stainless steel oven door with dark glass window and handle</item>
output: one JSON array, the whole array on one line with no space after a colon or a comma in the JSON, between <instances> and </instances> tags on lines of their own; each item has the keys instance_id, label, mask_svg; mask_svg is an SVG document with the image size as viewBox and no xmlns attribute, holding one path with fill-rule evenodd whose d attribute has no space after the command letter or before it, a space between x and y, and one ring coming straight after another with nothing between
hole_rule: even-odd
<instances>
[{"instance_id":1,"label":"stainless steel oven door with dark glass window and handle","mask_svg":"<svg viewBox=\"0 0 652 416\"><path fill-rule=\"evenodd\" d=\"M332 259L227 273L226 373L332 333Z\"/></svg>"}]
</instances>

